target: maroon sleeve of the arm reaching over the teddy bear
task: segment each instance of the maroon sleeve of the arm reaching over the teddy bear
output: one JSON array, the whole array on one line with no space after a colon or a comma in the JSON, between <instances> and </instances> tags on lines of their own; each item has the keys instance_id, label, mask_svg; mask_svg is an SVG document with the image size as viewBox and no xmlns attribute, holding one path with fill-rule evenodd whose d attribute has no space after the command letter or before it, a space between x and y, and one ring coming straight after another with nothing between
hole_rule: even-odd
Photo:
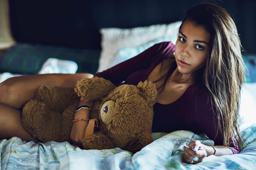
<instances>
[{"instance_id":1,"label":"maroon sleeve of the arm reaching over the teddy bear","mask_svg":"<svg viewBox=\"0 0 256 170\"><path fill-rule=\"evenodd\" d=\"M121 62L105 71L94 74L94 77L103 77L104 79L111 81L113 84L121 83L133 72L147 69L155 57L158 57L157 54L159 54L161 50L166 48L168 45L170 48L175 48L175 45L171 42L160 42L131 59Z\"/></svg>"}]
</instances>

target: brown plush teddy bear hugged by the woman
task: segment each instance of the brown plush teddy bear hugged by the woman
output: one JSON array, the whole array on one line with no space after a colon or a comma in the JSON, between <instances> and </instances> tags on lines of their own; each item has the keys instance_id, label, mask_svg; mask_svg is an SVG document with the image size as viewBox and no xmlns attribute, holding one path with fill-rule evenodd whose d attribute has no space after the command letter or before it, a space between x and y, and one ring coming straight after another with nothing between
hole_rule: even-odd
<instances>
[{"instance_id":1,"label":"brown plush teddy bear hugged by the woman","mask_svg":"<svg viewBox=\"0 0 256 170\"><path fill-rule=\"evenodd\" d=\"M71 142L72 120L79 99L94 100L90 119L98 120L99 131L82 139L83 147L98 150L120 147L134 153L152 142L156 96L156 86L147 81L137 86L116 87L100 77L84 78L77 82L75 91L41 86L34 99L24 106L21 124L41 142Z\"/></svg>"}]
</instances>

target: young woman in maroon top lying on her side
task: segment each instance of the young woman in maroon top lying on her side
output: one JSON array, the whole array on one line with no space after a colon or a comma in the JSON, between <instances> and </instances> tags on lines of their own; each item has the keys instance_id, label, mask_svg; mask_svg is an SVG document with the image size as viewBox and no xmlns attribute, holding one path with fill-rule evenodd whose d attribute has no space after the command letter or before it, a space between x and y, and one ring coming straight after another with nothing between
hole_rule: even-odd
<instances>
[{"instance_id":1,"label":"young woman in maroon top lying on her side","mask_svg":"<svg viewBox=\"0 0 256 170\"><path fill-rule=\"evenodd\" d=\"M230 14L212 3L188 10L179 28L176 45L161 42L94 76L115 85L149 80L159 94L154 105L153 132L191 130L206 133L215 145L193 141L185 147L183 161L195 164L206 156L238 153L233 134L238 134L238 107L244 82L244 62L235 23ZM91 74L46 74L15 77L0 85L0 138L18 136L33 140L21 126L20 109L39 85L75 87ZM91 107L93 101L80 101ZM74 119L88 119L88 109ZM71 139L80 145L88 122L74 122ZM239 140L240 141L240 140Z\"/></svg>"}]
</instances>

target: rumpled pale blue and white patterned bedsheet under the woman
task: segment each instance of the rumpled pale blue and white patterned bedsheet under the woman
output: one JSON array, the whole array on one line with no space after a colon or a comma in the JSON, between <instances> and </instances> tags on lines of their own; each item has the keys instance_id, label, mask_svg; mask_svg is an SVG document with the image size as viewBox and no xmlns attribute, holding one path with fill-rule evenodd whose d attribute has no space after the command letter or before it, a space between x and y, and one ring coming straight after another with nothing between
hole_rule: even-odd
<instances>
[{"instance_id":1,"label":"rumpled pale blue and white patterned bedsheet under the woman","mask_svg":"<svg viewBox=\"0 0 256 170\"><path fill-rule=\"evenodd\" d=\"M172 133L153 134L156 139L141 151L132 155L129 151L81 150L68 142L34 143L18 137L0 140L1 170L165 170L165 169L256 169L256 125L242 131L244 144L239 154L209 156L205 161L191 165L182 163L182 147L191 140L213 144L204 134L179 130ZM157 137L158 135L158 137Z\"/></svg>"}]
</instances>

